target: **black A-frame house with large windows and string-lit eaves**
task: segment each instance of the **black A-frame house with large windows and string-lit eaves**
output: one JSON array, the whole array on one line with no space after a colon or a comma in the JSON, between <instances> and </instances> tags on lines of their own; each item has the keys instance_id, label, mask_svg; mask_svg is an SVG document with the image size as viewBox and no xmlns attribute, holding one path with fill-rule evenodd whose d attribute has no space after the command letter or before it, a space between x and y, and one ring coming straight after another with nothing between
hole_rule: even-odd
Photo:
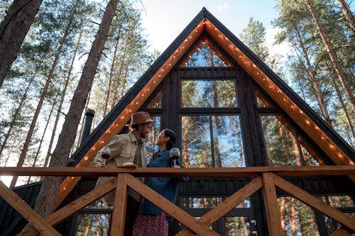
<instances>
[{"instance_id":1,"label":"black A-frame house with large windows and string-lit eaves","mask_svg":"<svg viewBox=\"0 0 355 236\"><path fill-rule=\"evenodd\" d=\"M84 140L68 166L87 167L114 135L126 132L124 125L136 111L148 111L156 121L150 141L161 128L176 131L185 167L290 166L297 173L298 167L355 164L354 149L206 9ZM177 205L200 218L251 179L192 178L180 184ZM355 175L294 174L286 179L342 213L354 215ZM57 206L92 190L95 181L67 177L58 193ZM38 185L31 186L35 189ZM32 201L37 191L31 193ZM273 207L279 208L276 212L280 212L285 235L331 235L342 225L285 191L276 189L276 193L278 206ZM212 229L219 235L271 235L266 197L265 192L256 191L221 215ZM1 222L9 213L9 209L3 209ZM112 208L97 203L56 228L62 235L80 235L84 227L107 223L107 215L111 214ZM349 220L348 232L354 225L354 220ZM175 220L170 235L182 227ZM108 232L105 230L104 235Z\"/></svg>"}]
</instances>

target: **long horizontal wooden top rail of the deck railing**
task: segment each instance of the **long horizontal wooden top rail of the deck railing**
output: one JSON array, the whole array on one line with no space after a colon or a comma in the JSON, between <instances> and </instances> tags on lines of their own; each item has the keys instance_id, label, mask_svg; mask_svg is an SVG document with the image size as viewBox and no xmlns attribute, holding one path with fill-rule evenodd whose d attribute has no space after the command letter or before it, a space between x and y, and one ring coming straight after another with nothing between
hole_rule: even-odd
<instances>
[{"instance_id":1,"label":"long horizontal wooden top rail of the deck railing","mask_svg":"<svg viewBox=\"0 0 355 236\"><path fill-rule=\"evenodd\" d=\"M249 177L273 172L278 176L344 176L355 175L353 165L320 167L229 167L229 168L93 168L93 167L0 167L3 176L190 176Z\"/></svg>"}]
</instances>

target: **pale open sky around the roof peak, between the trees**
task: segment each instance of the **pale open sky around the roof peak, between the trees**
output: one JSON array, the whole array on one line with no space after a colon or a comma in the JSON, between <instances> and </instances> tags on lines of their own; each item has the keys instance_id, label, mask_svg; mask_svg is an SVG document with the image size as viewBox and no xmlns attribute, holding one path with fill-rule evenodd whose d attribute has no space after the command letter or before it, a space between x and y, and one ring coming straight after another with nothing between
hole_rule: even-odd
<instances>
[{"instance_id":1,"label":"pale open sky around the roof peak, between the trees","mask_svg":"<svg viewBox=\"0 0 355 236\"><path fill-rule=\"evenodd\" d=\"M278 16L276 4L274 0L141 0L137 6L143 5L150 50L163 52L203 7L238 38L250 17L263 23L270 38L275 33L271 21Z\"/></svg>"}]
</instances>

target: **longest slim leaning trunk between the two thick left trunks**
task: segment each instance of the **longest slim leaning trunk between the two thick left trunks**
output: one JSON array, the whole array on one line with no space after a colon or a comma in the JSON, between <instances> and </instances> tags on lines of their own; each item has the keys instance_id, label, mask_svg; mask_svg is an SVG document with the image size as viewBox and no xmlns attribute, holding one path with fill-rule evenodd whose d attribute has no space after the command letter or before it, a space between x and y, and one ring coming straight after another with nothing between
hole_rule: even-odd
<instances>
[{"instance_id":1,"label":"longest slim leaning trunk between the two thick left trunks","mask_svg":"<svg viewBox=\"0 0 355 236\"><path fill-rule=\"evenodd\" d=\"M50 68L50 72L48 74L47 81L45 82L45 86L43 87L42 94L40 94L40 101L38 102L38 106L35 109L35 114L33 116L33 119L32 119L31 125L30 125L30 130L28 130L26 141L25 141L25 144L23 145L23 149L21 151L21 155L20 155L20 157L18 159L17 167L22 167L23 162L25 162L25 158L26 158L26 154L27 154L27 151L28 151L28 147L30 146L31 138L32 138L33 132L35 130L35 123L37 123L37 119L38 119L38 116L40 114L40 109L43 106L43 101L45 99L45 95L47 94L48 88L50 86L50 82L53 79L53 74L55 72L55 67L57 67L57 64L58 64L58 60L59 60L59 57L60 57L60 52L62 52L62 47L65 44L65 40L67 40L67 35L69 34L70 26L72 25L72 20L73 20L73 16L74 16L74 13L75 13L75 8L77 6L77 2L76 2L75 6L72 9L69 21L67 23L67 27L65 28L63 36L62 36L62 38L60 40L60 45L58 47L58 50L57 50L57 52L55 52L55 58L54 58L52 67ZM13 178L11 180L10 187L13 187L13 186L16 185L17 179L18 179L18 176L13 176Z\"/></svg>"}]
</instances>

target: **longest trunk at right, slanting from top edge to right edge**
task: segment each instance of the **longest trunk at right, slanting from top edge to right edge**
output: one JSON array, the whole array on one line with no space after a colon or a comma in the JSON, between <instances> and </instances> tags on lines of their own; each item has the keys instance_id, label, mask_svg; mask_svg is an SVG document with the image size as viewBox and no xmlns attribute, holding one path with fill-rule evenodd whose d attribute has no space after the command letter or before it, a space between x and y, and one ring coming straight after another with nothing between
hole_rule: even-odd
<instances>
[{"instance_id":1,"label":"longest trunk at right, slanting from top edge to right edge","mask_svg":"<svg viewBox=\"0 0 355 236\"><path fill-rule=\"evenodd\" d=\"M332 61L335 72L337 72L337 76L339 77L339 80L342 83L342 86L344 87L346 95L349 97L351 106L352 106L353 110L355 110L354 94L349 89L349 84L346 81L343 69L339 64L337 55L335 54L334 49L333 49L332 45L330 44L329 39L327 38L327 35L324 33L324 30L323 30L322 26L320 25L320 21L318 20L317 16L315 15L315 11L313 11L312 5L310 4L310 0L305 0L305 4L307 5L308 9L310 10L310 13L312 14L313 19L315 20L317 30L320 32L320 37L322 38L323 43L324 43L325 47L327 48L327 52L329 54L330 60Z\"/></svg>"}]
</instances>

